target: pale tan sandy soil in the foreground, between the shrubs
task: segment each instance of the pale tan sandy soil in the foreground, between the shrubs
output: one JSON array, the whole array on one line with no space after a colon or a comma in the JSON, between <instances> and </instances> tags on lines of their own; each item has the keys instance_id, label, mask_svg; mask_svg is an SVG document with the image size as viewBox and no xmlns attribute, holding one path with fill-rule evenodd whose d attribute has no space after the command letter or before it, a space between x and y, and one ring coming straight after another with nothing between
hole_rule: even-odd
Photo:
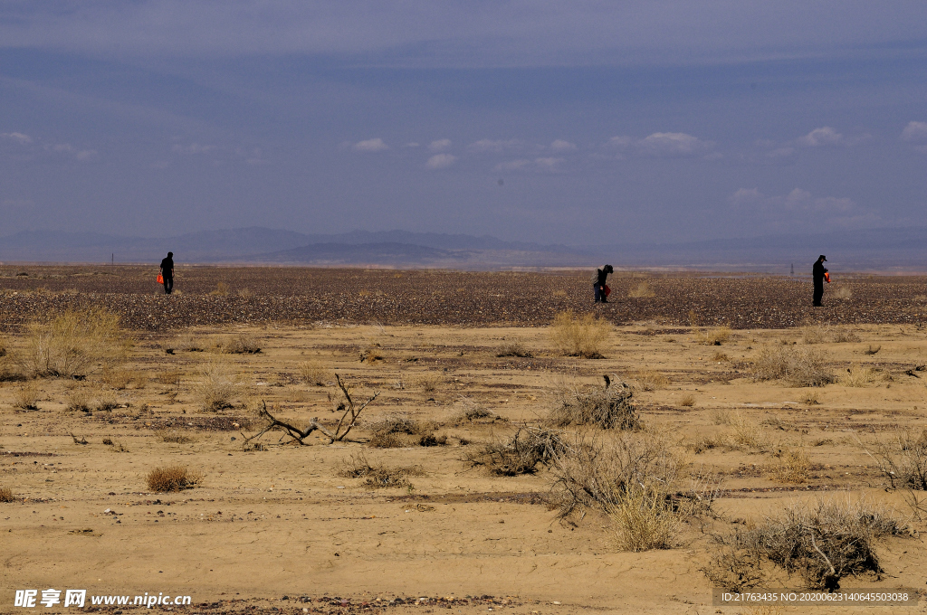
<instances>
[{"instance_id":1,"label":"pale tan sandy soil in the foreground, between the shrubs","mask_svg":"<svg viewBox=\"0 0 927 615\"><path fill-rule=\"evenodd\" d=\"M0 485L16 497L0 503L0 611L22 611L12 607L15 589L55 587L190 595L194 606L177 610L197 612L760 612L712 606L699 571L715 548L709 533L821 496L866 495L899 517L912 512L900 492L886 490L860 443L923 427L927 371L916 368L927 364L927 332L910 325L852 332L858 341L816 347L834 374L860 364L883 370L883 378L813 389L817 404L806 403L811 389L746 377L761 345L801 345L796 329L735 331L718 346L699 343L689 328L642 321L617 327L596 360L557 356L544 327L199 327L189 333L207 350L173 354L165 349L178 346L177 333L136 333L124 366L133 382L124 389L105 383L99 370L81 382L39 380L38 409L24 410L13 404L29 383L0 383ZM238 333L252 336L260 353L210 350ZM497 357L514 340L534 357ZM25 343L21 333L6 337L14 352ZM197 387L202 366L217 358L235 366L239 383L234 407L211 412ZM324 368L325 386L300 380L303 361ZM676 548L622 552L596 513L558 521L548 504L552 474L543 467L502 477L464 463L468 449L539 422L565 383L593 385L613 372L637 382L651 370L667 381L635 395L646 429L667 437L691 469L724 477L717 518L685 524ZM303 424L318 417L331 426L339 415L331 401L335 372L356 387L355 398L380 392L349 441L328 445L313 434L310 446L298 446L267 433L257 449L245 443L259 431L261 402L278 417ZM66 409L75 391L92 400L89 412ZM692 406L682 405L687 395ZM93 409L113 396L117 408ZM462 399L504 420L454 424ZM375 422L395 413L431 421L447 445L368 446ZM758 430L763 445L692 446L720 441L737 424ZM163 442L165 430L190 441ZM810 459L800 482L777 479L782 447ZM361 453L371 464L415 467L413 486L374 489L341 476ZM171 463L200 473L200 483L150 492L146 474ZM881 581L843 585L925 588L920 537L884 539L879 553ZM396 597L404 599L390 603Z\"/></svg>"}]
</instances>

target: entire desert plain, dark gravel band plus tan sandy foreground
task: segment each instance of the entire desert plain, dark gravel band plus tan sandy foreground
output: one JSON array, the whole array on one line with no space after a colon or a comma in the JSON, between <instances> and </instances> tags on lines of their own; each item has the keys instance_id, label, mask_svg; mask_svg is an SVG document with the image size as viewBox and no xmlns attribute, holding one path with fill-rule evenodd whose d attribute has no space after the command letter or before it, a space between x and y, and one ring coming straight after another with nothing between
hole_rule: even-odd
<instances>
[{"instance_id":1,"label":"entire desert plain, dark gravel band plus tan sandy foreground","mask_svg":"<svg viewBox=\"0 0 927 615\"><path fill-rule=\"evenodd\" d=\"M883 522L841 587L921 602L810 609L925 610L927 279L847 275L812 309L790 277L618 272L593 305L586 271L179 268L169 297L155 273L0 267L2 612L29 588L210 613L806 612L712 590L813 586L735 536L822 506ZM119 318L115 349L36 369L48 323L88 308ZM564 313L589 315L589 352ZM564 420L602 397L633 424ZM269 416L322 429L260 434ZM506 457L539 434L550 454ZM628 487L658 496L649 518L578 502L609 454L598 481L649 459ZM169 467L189 484L154 489Z\"/></svg>"}]
</instances>

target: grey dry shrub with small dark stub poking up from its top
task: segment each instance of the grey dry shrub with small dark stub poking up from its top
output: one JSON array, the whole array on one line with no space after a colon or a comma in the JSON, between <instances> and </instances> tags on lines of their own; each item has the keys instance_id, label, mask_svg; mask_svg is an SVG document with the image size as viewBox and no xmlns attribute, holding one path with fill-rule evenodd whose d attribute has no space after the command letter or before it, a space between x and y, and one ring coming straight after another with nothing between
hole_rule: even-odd
<instances>
[{"instance_id":1,"label":"grey dry shrub with small dark stub poking up from its top","mask_svg":"<svg viewBox=\"0 0 927 615\"><path fill-rule=\"evenodd\" d=\"M557 427L595 425L600 429L639 429L641 420L631 402L628 383L606 380L603 387L580 390L567 387L557 395L548 420Z\"/></svg>"}]
</instances>

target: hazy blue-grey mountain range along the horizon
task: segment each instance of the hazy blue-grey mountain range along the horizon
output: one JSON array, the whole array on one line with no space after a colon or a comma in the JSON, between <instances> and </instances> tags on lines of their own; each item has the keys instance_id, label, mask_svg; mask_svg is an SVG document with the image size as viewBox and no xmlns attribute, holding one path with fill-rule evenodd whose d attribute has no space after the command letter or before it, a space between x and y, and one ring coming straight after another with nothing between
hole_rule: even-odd
<instances>
[{"instance_id":1,"label":"hazy blue-grey mountain range along the horizon","mask_svg":"<svg viewBox=\"0 0 927 615\"><path fill-rule=\"evenodd\" d=\"M431 232L354 231L305 234L262 227L120 237L92 232L30 231L0 237L0 261L178 262L375 265L461 269L505 267L687 267L702 270L805 272L819 254L836 269L927 270L927 228L775 234L699 242L540 245L496 237Z\"/></svg>"}]
</instances>

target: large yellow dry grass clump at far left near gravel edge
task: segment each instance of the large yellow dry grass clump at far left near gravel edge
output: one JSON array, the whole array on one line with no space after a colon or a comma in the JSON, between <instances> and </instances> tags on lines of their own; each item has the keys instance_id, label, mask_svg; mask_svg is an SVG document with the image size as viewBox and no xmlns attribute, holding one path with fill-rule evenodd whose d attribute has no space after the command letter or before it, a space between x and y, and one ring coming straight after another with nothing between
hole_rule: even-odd
<instances>
[{"instance_id":1,"label":"large yellow dry grass clump at far left near gravel edge","mask_svg":"<svg viewBox=\"0 0 927 615\"><path fill-rule=\"evenodd\" d=\"M33 377L70 378L100 363L119 363L129 345L116 314L97 307L69 309L29 326L27 345L19 361Z\"/></svg>"}]
</instances>

